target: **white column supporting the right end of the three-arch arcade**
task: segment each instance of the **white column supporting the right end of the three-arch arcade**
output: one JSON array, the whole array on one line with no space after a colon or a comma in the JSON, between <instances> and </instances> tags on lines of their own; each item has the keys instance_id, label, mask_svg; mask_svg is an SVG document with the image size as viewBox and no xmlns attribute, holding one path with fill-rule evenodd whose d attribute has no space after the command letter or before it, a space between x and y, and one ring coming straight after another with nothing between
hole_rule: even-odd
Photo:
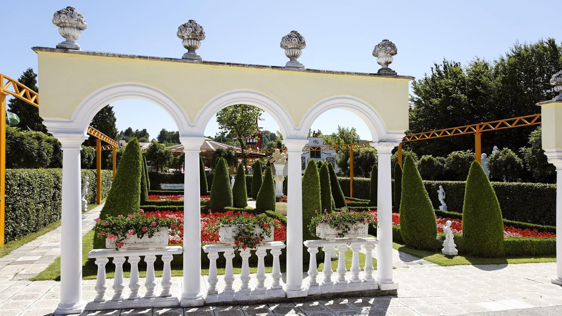
<instances>
[{"instance_id":1,"label":"white column supporting the right end of the three-arch arcade","mask_svg":"<svg viewBox=\"0 0 562 316\"><path fill-rule=\"evenodd\" d=\"M396 290L398 283L392 277L392 179L390 157L398 143L371 143L377 150L377 282L380 290Z\"/></svg>"}]
</instances>

